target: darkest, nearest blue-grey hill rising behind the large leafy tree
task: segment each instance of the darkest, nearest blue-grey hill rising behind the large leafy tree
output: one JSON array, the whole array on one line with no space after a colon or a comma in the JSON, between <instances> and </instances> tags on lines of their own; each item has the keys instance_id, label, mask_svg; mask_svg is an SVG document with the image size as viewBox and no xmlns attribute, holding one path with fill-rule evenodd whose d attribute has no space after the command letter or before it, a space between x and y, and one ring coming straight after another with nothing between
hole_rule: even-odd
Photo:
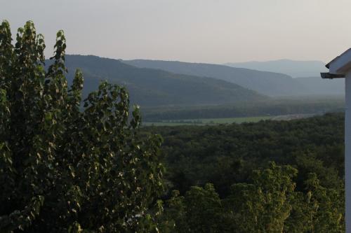
<instances>
[{"instance_id":1,"label":"darkest, nearest blue-grey hill rising behind the large leafy tree","mask_svg":"<svg viewBox=\"0 0 351 233\"><path fill-rule=\"evenodd\" d=\"M101 80L107 80L127 87L131 102L141 106L230 104L267 98L224 80L140 69L92 55L67 55L66 66L69 80L75 69L83 71L85 96L96 90Z\"/></svg>"}]
</instances>

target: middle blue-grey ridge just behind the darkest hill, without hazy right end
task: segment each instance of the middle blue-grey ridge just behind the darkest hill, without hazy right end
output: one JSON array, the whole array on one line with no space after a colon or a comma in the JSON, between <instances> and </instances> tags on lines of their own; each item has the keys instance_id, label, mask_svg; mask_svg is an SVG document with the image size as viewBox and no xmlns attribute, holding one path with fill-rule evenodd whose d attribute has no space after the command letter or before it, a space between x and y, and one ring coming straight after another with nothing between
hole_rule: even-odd
<instances>
[{"instance_id":1,"label":"middle blue-grey ridge just behind the darkest hill, without hazy right end","mask_svg":"<svg viewBox=\"0 0 351 233\"><path fill-rule=\"evenodd\" d=\"M309 94L299 82L283 73L256 71L252 69L233 68L218 64L201 64L187 62L170 62L157 60L136 59L123 61L137 67L162 69L173 73L193 76L204 76L226 80L242 87L256 90L268 96L292 96Z\"/></svg>"}]
</instances>

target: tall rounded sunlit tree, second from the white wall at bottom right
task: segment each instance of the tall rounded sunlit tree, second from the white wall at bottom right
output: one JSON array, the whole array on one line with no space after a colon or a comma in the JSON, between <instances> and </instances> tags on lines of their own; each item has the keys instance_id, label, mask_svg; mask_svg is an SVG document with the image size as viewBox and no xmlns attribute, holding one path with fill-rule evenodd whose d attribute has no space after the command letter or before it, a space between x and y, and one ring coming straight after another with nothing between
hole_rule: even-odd
<instances>
[{"instance_id":1,"label":"tall rounded sunlit tree, second from the white wall at bottom right","mask_svg":"<svg viewBox=\"0 0 351 233\"><path fill-rule=\"evenodd\" d=\"M227 197L230 218L236 232L282 232L291 212L291 196L295 189L292 179L297 170L290 166L253 172L253 183L232 186Z\"/></svg>"}]
</instances>

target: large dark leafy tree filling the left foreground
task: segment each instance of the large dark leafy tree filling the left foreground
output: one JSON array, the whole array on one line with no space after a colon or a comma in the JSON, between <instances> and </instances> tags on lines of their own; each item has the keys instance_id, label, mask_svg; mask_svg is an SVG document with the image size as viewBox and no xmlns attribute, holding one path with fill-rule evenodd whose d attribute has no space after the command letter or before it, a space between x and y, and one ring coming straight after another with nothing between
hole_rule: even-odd
<instances>
[{"instance_id":1,"label":"large dark leafy tree filling the left foreground","mask_svg":"<svg viewBox=\"0 0 351 233\"><path fill-rule=\"evenodd\" d=\"M81 106L83 76L65 73L58 31L51 65L33 22L12 43L0 26L0 232L150 232L162 190L158 136L139 136L128 93L101 83Z\"/></svg>"}]
</instances>

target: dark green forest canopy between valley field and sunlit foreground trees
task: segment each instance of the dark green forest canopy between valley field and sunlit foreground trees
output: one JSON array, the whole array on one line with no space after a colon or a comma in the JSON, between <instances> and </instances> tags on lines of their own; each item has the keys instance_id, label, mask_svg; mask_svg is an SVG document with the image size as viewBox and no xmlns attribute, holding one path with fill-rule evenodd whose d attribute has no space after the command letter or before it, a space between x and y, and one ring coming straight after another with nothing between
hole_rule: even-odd
<instances>
[{"instance_id":1,"label":"dark green forest canopy between valley field and sunlit foreground trees","mask_svg":"<svg viewBox=\"0 0 351 233\"><path fill-rule=\"evenodd\" d=\"M291 121L143 130L164 137L161 149L172 189L184 195L193 185L213 183L220 197L226 197L232 184L249 183L251 171L270 161L298 169L298 190L304 190L311 172L324 187L340 188L343 128L343 114L327 114Z\"/></svg>"}]
</instances>

